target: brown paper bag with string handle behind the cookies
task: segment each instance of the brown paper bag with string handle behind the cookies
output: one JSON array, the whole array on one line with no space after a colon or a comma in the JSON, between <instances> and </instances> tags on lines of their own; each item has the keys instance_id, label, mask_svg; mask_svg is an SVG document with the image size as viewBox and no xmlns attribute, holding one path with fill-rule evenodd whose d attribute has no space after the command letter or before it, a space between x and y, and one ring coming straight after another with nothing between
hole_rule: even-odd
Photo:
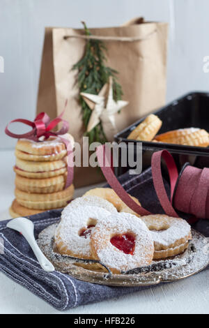
<instances>
[{"instance_id":1,"label":"brown paper bag with string handle behind the cookies","mask_svg":"<svg viewBox=\"0 0 209 328\"><path fill-rule=\"evenodd\" d=\"M129 105L116 114L118 131L164 105L167 23L144 22L137 18L122 27L91 29L91 33L104 37L107 65L118 70L123 99L129 101ZM37 103L37 112L47 112L53 119L61 114L68 99L64 119L69 121L69 132L80 143L84 126L79 89L75 83L77 72L72 70L72 66L84 56L86 40L83 36L83 29L45 29ZM98 168L75 168L76 187L96 184L101 180Z\"/></svg>"}]
</instances>

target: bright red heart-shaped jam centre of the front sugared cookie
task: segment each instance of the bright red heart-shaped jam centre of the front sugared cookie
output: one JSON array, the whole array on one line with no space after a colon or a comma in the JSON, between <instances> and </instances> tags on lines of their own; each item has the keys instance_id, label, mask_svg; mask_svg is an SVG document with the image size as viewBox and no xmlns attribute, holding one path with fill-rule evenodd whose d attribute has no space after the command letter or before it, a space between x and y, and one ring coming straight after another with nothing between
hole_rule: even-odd
<instances>
[{"instance_id":1,"label":"bright red heart-shaped jam centre of the front sugared cookie","mask_svg":"<svg viewBox=\"0 0 209 328\"><path fill-rule=\"evenodd\" d=\"M110 239L110 242L123 253L133 255L135 249L135 237L132 234L116 234Z\"/></svg>"}]
</instances>

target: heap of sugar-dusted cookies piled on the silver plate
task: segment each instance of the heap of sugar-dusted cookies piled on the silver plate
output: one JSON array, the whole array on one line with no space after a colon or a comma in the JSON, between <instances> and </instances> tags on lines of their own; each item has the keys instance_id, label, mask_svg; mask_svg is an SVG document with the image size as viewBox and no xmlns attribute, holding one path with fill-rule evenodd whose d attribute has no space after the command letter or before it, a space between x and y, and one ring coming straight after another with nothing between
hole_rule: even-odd
<instances>
[{"instance_id":1,"label":"heap of sugar-dusted cookies piled on the silver plate","mask_svg":"<svg viewBox=\"0 0 209 328\"><path fill-rule=\"evenodd\" d=\"M54 235L61 255L82 258L84 262L77 265L85 269L104 271L106 267L113 274L121 274L187 250L192 240L187 221L163 214L139 218L118 213L121 202L113 198L110 188L104 188L104 193L96 188L93 195L77 198L63 209Z\"/></svg>"}]
</instances>

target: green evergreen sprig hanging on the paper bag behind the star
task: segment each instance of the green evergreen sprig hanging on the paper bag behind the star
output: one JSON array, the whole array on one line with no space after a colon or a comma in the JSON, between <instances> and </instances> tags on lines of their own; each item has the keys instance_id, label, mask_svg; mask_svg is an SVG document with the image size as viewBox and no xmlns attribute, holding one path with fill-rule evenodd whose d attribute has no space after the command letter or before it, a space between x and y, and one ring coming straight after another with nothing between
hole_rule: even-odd
<instances>
[{"instance_id":1,"label":"green evergreen sprig hanging on the paper bag behind the star","mask_svg":"<svg viewBox=\"0 0 209 328\"><path fill-rule=\"evenodd\" d=\"M85 22L82 22L82 24L84 24L86 36L90 36L91 32L86 27ZM101 40L89 39L86 43L84 57L75 64L72 69L78 70L77 83L79 86L79 92L98 94L104 84L109 81L109 77L113 77L114 100L120 100L123 91L121 84L118 83L116 77L118 72L113 68L105 66L105 63L107 62L106 53L107 48ZM87 128L92 111L82 96L79 96L79 101L83 110L84 126ZM89 137L89 143L101 142L104 144L104 142L107 141L101 122L90 132L86 132L85 135Z\"/></svg>"}]
</instances>

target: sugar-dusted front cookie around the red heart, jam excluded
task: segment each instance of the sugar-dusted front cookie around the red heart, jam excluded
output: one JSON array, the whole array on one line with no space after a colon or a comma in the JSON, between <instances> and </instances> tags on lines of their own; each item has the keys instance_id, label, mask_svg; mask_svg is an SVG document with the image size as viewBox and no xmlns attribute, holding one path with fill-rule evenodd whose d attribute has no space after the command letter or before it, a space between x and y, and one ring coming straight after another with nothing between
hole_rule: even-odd
<instances>
[{"instance_id":1,"label":"sugar-dusted front cookie around the red heart, jam excluded","mask_svg":"<svg viewBox=\"0 0 209 328\"><path fill-rule=\"evenodd\" d=\"M115 234L131 233L135 236L135 249L133 255L125 254L113 246L110 239ZM144 267L153 259L153 239L140 218L132 214L118 213L108 216L100 221L92 236L98 258L107 267L118 271L127 271L135 267Z\"/></svg>"}]
</instances>

